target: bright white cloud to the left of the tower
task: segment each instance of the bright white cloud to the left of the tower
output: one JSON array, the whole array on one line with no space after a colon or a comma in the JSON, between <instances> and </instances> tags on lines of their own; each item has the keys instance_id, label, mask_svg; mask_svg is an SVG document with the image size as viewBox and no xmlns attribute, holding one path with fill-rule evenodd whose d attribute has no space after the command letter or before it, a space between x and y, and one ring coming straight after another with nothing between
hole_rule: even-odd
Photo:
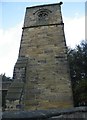
<instances>
[{"instance_id":1,"label":"bright white cloud to the left of the tower","mask_svg":"<svg viewBox=\"0 0 87 120\"><path fill-rule=\"evenodd\" d=\"M0 29L0 74L12 76L18 57L23 22L13 28Z\"/></svg>"}]
</instances>

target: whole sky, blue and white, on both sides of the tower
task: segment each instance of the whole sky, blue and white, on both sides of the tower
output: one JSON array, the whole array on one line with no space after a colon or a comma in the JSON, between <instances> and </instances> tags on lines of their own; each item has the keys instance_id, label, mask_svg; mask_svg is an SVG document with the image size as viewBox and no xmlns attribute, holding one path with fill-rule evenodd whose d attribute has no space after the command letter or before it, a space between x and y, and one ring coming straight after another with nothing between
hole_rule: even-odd
<instances>
[{"instance_id":1,"label":"whole sky, blue and white, on both sides of the tower","mask_svg":"<svg viewBox=\"0 0 87 120\"><path fill-rule=\"evenodd\" d=\"M58 0L40 1L2 0L0 2L0 74L5 73L9 77L13 75L26 7L58 3ZM82 40L85 40L85 15L87 15L85 2L64 1L61 7L67 46L75 48Z\"/></svg>"}]
</instances>

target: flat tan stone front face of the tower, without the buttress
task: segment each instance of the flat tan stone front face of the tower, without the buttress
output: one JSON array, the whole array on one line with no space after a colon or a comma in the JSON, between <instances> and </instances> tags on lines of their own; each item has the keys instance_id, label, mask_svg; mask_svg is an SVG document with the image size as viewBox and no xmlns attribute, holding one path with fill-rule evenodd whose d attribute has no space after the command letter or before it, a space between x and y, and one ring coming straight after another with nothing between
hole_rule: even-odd
<instances>
[{"instance_id":1,"label":"flat tan stone front face of the tower, without the buttress","mask_svg":"<svg viewBox=\"0 0 87 120\"><path fill-rule=\"evenodd\" d=\"M44 18L41 22L38 21L36 19L38 16L33 14L34 11L41 12L43 9L52 11L48 15L50 20L47 22L44 22ZM60 11L59 4L26 10L19 53L20 56L25 55L29 58L26 71L25 89L28 92L25 93L25 109L73 106Z\"/></svg>"}]
</instances>

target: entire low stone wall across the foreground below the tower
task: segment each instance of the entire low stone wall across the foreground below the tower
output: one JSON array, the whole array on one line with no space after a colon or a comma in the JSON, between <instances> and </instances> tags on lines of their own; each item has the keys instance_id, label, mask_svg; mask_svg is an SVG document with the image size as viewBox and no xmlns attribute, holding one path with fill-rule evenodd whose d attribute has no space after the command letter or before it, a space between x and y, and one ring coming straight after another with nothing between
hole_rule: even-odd
<instances>
[{"instance_id":1,"label":"entire low stone wall across the foreground below the tower","mask_svg":"<svg viewBox=\"0 0 87 120\"><path fill-rule=\"evenodd\" d=\"M87 107L34 111L6 111L2 114L2 120L57 120L60 118L81 118L86 120Z\"/></svg>"}]
</instances>

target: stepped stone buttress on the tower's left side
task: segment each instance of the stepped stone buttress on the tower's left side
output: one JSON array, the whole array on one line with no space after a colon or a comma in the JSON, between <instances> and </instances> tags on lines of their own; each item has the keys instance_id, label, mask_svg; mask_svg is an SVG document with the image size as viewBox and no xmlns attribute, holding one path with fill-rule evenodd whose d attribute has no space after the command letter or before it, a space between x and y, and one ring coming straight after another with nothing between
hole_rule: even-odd
<instances>
[{"instance_id":1,"label":"stepped stone buttress on the tower's left side","mask_svg":"<svg viewBox=\"0 0 87 120\"><path fill-rule=\"evenodd\" d=\"M23 109L23 94L26 82L27 58L19 57L13 73L13 82L10 85L6 96L6 110Z\"/></svg>"}]
</instances>

